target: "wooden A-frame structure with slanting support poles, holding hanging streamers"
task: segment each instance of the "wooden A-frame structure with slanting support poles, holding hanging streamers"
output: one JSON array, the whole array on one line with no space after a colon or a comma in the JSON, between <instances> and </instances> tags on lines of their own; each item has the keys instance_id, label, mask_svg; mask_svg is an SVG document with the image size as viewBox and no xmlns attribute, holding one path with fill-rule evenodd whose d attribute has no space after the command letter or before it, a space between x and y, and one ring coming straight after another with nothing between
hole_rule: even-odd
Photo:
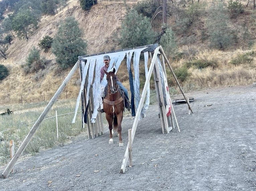
<instances>
[{"instance_id":1,"label":"wooden A-frame structure with slanting support poles, holding hanging streamers","mask_svg":"<svg viewBox=\"0 0 256 191\"><path fill-rule=\"evenodd\" d=\"M155 86L156 86L156 93L157 93L157 100L158 100L158 107L159 107L159 115L160 115L160 118L161 118L162 132L163 133L169 133L169 131L172 129L172 127L174 127L173 126L172 117L171 117L172 126L170 126L169 119L168 119L168 117L165 114L165 104L164 104L164 100L163 100L163 89L161 88L161 84L160 84L160 80L159 80L160 79L160 72L161 71L159 71L159 68L157 67L157 66L160 66L159 65L160 64L159 56L162 57L161 65L162 65L162 68L163 68L165 76L166 76L166 73L165 73L164 61L166 61L169 69L171 70L171 73L173 74L174 79L176 80L177 85L180 88L180 90L182 92L182 95L184 96L184 99L186 100L186 102L188 104L189 110L191 112L193 112L191 107L190 107L190 105L189 105L189 102L188 102L186 96L184 95L184 93L183 93L183 91L182 91L182 89L181 89L181 87L179 85L179 82L177 81L177 78L176 78L176 76L175 76L175 74L174 74L174 72L173 72L173 70L172 70L172 68L170 66L170 63L169 63L166 55L164 54L164 51L163 51L162 47L158 46L158 44L147 45L147 46L131 48L131 49L125 49L125 50L120 50L120 51L113 51L113 52L108 52L108 53L101 53L101 54L90 55L90 56L92 56L91 58L93 58L93 59L94 59L94 57L98 57L98 56L103 58L104 54L111 54L111 53L121 54L121 51L122 51L122 53L125 53L126 55L128 55L127 52L132 51L132 50L136 50L136 49L139 49L139 48L143 49L144 54L147 54L147 53L150 54L151 65L150 65L150 68L148 70L148 74L146 76L145 86L143 88L141 99L140 99L138 107L137 107L137 113L136 113L136 116L135 116L133 127L131 129L131 143L132 143L132 141L134 139L134 135L135 135L135 131L136 131L136 128L137 128L138 120L140 118L139 115L140 115L140 112L142 110L143 102L144 102L145 95L146 95L146 86L149 84L150 76L151 76L152 73L154 74L154 79L155 79ZM145 52L145 51L147 51L147 52ZM153 54L153 56L152 56L152 54ZM101 58L101 60L103 60L102 58ZM83 71L82 69L85 67L85 61L86 61L86 58L79 57L79 60L74 65L74 67L72 68L72 70L70 71L68 76L65 78L65 80L62 82L62 84L60 85L60 87L58 88L56 93L53 95L53 97L51 98L51 100L49 101L49 103L47 104L47 106L45 107L45 109L43 110L43 112L41 113L41 115L39 116L37 121L35 122L35 124L32 126L31 130L29 131L29 133L27 134L27 136L25 137L25 139L21 143L21 145L18 148L18 150L16 151L15 155L12 157L11 161L9 162L7 167L5 168L4 172L2 173L2 177L3 178L7 178L9 176L9 174L10 174L11 170L13 169L14 165L16 164L17 160L22 155L23 151L25 150L25 148L27 147L28 143L32 139L32 137L35 134L36 130L39 128L39 125L41 124L42 120L44 119L46 114L49 112L49 110L51 109L52 105L55 103L55 101L57 100L57 98L59 97L59 95L61 94L63 89L66 87L67 83L70 81L71 77L74 75L75 71L78 68L80 68L80 72L81 72L80 73L81 74L81 81L84 82L84 83L81 83L81 90L82 90L83 94L79 95L79 97L82 97L82 111L83 111L83 114L82 114L82 126L83 127L85 126L85 119L88 119L89 117L92 117L93 114L95 114L95 112L93 113L93 109L92 108L90 108L88 110L89 111L88 114L86 114L84 112L87 109L85 106L88 105L88 107L89 107L89 104L85 104L85 100L86 100L86 103L90 103L91 107L92 107L92 104L94 102L93 96L88 96L90 94L93 94L93 92L92 92L92 85L89 83L89 82L92 83L92 81L88 80L87 76L84 75L84 74L90 73L90 70L86 71L86 72L84 72L82 74L82 71ZM119 62L119 60L117 62ZM91 67L91 68L93 69L93 67ZM96 76L94 76L94 77L96 77ZM86 84L86 82L88 84ZM86 86L87 86L87 89L85 89ZM74 117L74 119L75 119L75 117ZM97 117L95 118L95 121L92 121L92 120L90 120L90 122L89 122L89 120L87 120L87 121L88 121L87 126L88 126L88 136L89 136L89 138L94 138L95 136L98 136L98 135L103 133L103 125L102 125L101 113L97 113ZM128 154L129 154L128 150L129 149L128 149L128 145L127 145L127 148L126 148L126 151L125 151L125 156L124 156L122 167L121 167L121 172L122 173L125 172L125 167L126 167L126 164L127 164L127 161L128 161Z\"/></svg>"}]
</instances>

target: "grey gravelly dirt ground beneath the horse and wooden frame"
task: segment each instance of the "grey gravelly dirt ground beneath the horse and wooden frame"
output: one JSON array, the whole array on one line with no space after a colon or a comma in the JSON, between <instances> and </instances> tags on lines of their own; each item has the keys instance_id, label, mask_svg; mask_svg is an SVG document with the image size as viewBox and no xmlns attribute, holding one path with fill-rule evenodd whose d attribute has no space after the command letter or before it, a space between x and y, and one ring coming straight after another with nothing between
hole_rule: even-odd
<instances>
[{"instance_id":1,"label":"grey gravelly dirt ground beneath the horse and wooden frame","mask_svg":"<svg viewBox=\"0 0 256 191\"><path fill-rule=\"evenodd\" d=\"M21 157L16 173L0 178L0 190L255 191L256 88L226 87L186 96L195 98L190 102L193 113L188 114L186 104L173 105L181 132L175 123L169 134L162 134L158 107L150 105L138 123L133 167L127 164L125 174L119 171L131 116L122 123L124 147L117 137L108 144L107 131L90 140L78 136L64 146Z\"/></svg>"}]
</instances>

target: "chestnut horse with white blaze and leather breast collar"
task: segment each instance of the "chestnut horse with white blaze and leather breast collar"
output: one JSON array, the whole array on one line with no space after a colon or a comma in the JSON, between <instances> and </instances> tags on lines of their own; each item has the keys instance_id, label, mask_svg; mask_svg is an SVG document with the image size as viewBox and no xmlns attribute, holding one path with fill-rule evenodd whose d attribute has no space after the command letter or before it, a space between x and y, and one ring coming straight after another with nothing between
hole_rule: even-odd
<instances>
[{"instance_id":1,"label":"chestnut horse with white blaze and leather breast collar","mask_svg":"<svg viewBox=\"0 0 256 191\"><path fill-rule=\"evenodd\" d=\"M114 128L119 135L119 146L124 146L121 127L124 112L124 98L121 95L121 89L116 83L115 68L113 68L113 72L106 72L105 70L104 72L107 75L108 87L107 95L103 99L103 109L109 124L109 144L113 143L112 129Z\"/></svg>"}]
</instances>

